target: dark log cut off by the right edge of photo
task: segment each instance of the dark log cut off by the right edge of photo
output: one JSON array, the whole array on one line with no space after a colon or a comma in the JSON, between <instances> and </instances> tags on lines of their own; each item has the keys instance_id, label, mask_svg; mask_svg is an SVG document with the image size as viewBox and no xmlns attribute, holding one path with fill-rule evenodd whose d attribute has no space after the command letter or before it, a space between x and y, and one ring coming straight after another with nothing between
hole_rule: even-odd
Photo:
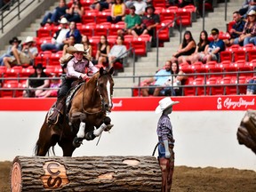
<instances>
[{"instance_id":1,"label":"dark log cut off by the right edge of photo","mask_svg":"<svg viewBox=\"0 0 256 192\"><path fill-rule=\"evenodd\" d=\"M247 110L237 130L239 144L251 148L256 154L256 110Z\"/></svg>"}]
</instances>

